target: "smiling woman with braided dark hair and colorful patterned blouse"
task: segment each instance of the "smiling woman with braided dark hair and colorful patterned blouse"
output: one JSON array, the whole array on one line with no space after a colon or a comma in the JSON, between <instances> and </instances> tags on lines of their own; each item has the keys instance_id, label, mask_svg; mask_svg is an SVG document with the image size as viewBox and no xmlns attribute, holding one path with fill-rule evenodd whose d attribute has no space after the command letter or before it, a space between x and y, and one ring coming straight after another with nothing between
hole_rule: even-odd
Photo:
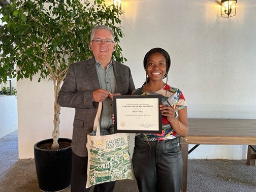
<instances>
[{"instance_id":1,"label":"smiling woman with braided dark hair and colorful patterned blouse","mask_svg":"<svg viewBox=\"0 0 256 192\"><path fill-rule=\"evenodd\" d=\"M136 134L133 153L135 178L141 192L178 192L183 168L178 137L188 134L186 102L180 89L167 84L171 66L168 52L162 48L151 49L145 55L143 65L146 82L133 94L162 95L162 134Z\"/></svg>"}]
</instances>

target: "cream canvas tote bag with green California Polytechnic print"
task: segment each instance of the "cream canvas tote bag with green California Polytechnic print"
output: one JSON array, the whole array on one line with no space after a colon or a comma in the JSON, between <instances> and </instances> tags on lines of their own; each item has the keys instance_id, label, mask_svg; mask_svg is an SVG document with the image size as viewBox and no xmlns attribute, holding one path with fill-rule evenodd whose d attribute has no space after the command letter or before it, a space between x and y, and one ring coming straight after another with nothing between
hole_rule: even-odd
<instances>
[{"instance_id":1,"label":"cream canvas tote bag with green California Polytechnic print","mask_svg":"<svg viewBox=\"0 0 256 192\"><path fill-rule=\"evenodd\" d=\"M96 135L87 135L88 166L86 188L110 181L133 179L129 134L100 135L102 102L94 119Z\"/></svg>"}]
</instances>

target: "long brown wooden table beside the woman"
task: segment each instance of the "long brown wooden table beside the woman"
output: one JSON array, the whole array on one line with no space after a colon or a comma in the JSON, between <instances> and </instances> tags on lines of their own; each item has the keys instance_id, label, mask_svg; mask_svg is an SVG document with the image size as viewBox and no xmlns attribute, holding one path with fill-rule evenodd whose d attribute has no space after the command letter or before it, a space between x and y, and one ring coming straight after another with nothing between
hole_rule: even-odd
<instances>
[{"instance_id":1,"label":"long brown wooden table beside the woman","mask_svg":"<svg viewBox=\"0 0 256 192\"><path fill-rule=\"evenodd\" d=\"M188 119L188 127L188 136L180 138L183 158L181 191L187 188L188 144L256 145L256 119ZM253 165L254 162L255 165L255 152L249 146L247 164Z\"/></svg>"}]
</instances>

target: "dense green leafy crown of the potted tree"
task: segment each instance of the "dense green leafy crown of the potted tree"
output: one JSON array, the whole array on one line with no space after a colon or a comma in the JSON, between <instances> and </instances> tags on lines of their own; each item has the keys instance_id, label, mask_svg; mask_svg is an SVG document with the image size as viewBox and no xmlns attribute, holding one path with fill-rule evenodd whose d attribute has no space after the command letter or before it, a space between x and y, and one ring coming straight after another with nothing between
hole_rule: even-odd
<instances>
[{"instance_id":1,"label":"dense green leafy crown of the potted tree","mask_svg":"<svg viewBox=\"0 0 256 192\"><path fill-rule=\"evenodd\" d=\"M17 80L65 78L71 63L92 57L88 44L90 31L96 24L106 24L114 32L117 43L113 58L127 59L118 45L123 37L122 12L106 6L104 0L9 0L0 9L0 82L7 77ZM90 3L92 2L92 3ZM19 69L16 71L16 69ZM63 73L66 72L66 73ZM58 90L55 92L55 99Z\"/></svg>"}]
</instances>

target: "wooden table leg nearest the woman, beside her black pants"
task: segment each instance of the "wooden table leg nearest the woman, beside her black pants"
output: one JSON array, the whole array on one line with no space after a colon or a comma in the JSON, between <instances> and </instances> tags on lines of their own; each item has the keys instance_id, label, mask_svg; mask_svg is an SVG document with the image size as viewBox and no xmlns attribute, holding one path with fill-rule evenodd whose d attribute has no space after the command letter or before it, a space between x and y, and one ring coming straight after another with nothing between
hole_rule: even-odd
<instances>
[{"instance_id":1,"label":"wooden table leg nearest the woman, beside her black pants","mask_svg":"<svg viewBox=\"0 0 256 192\"><path fill-rule=\"evenodd\" d=\"M186 192L187 188L187 158L188 158L188 144L180 145L181 154L183 159L183 175L182 175L182 185L181 191Z\"/></svg>"}]
</instances>

